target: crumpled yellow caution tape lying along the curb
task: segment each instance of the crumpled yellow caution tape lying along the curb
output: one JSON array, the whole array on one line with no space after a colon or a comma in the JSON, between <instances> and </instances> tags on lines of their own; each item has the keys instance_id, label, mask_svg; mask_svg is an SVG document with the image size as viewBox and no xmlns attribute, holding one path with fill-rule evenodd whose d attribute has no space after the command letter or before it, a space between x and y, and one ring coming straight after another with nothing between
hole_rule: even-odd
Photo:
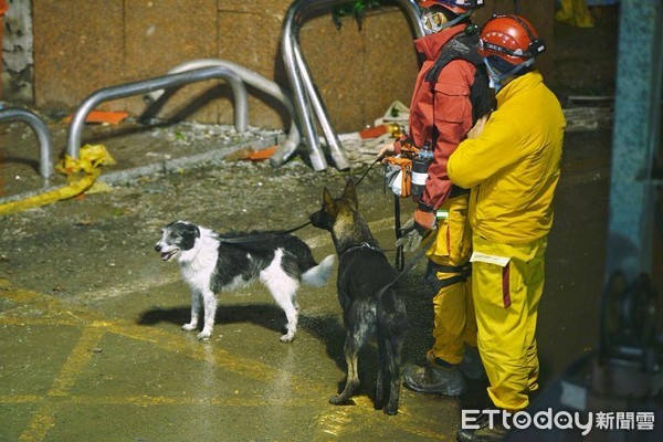
<instances>
[{"instance_id":1,"label":"crumpled yellow caution tape lying along the curb","mask_svg":"<svg viewBox=\"0 0 663 442\"><path fill-rule=\"evenodd\" d=\"M76 197L93 187L96 179L102 175L102 166L115 165L115 159L113 159L102 145L83 146L80 157L76 159L65 155L64 159L55 166L57 172L66 175L67 186L20 201L10 201L0 204L0 215Z\"/></svg>"}]
</instances>

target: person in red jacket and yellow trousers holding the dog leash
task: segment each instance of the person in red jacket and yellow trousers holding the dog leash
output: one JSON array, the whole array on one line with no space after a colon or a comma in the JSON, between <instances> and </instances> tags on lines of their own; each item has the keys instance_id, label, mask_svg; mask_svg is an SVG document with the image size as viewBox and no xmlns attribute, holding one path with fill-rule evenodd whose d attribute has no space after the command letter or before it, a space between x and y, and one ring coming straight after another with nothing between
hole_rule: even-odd
<instances>
[{"instance_id":1,"label":"person in red jacket and yellow trousers holding the dog leash","mask_svg":"<svg viewBox=\"0 0 663 442\"><path fill-rule=\"evenodd\" d=\"M478 378L484 372L476 350L470 290L469 191L451 183L446 161L474 123L491 110L494 96L475 51L477 28L470 21L483 0L427 0L419 4L427 35L414 41L424 61L410 104L409 134L383 146L379 155L399 154L404 143L433 147L425 188L397 242L412 252L419 249L422 236L438 227L427 251L427 280L435 293L433 345L427 364L407 365L403 379L414 391L456 397L465 391L463 373ZM473 364L461 365L463 359Z\"/></svg>"}]
</instances>

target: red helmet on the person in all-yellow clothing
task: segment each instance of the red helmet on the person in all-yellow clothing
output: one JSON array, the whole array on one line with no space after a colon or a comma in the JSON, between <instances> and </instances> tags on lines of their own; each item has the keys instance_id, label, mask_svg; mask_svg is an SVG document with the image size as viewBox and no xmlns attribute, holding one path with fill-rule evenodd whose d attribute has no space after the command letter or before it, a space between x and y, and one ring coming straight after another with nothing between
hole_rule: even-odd
<instances>
[{"instance_id":1,"label":"red helmet on the person in all-yellow clothing","mask_svg":"<svg viewBox=\"0 0 663 442\"><path fill-rule=\"evenodd\" d=\"M486 22L478 38L478 54L495 55L511 63L537 56L546 50L536 29L519 15L493 15Z\"/></svg>"}]
</instances>

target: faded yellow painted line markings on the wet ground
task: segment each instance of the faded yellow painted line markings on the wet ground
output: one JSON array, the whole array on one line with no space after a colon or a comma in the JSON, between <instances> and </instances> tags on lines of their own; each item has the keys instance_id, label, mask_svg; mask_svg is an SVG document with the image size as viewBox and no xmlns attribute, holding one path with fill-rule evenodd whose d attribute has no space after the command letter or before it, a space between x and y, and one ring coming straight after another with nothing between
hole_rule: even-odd
<instances>
[{"instance_id":1,"label":"faded yellow painted line markings on the wet ground","mask_svg":"<svg viewBox=\"0 0 663 442\"><path fill-rule=\"evenodd\" d=\"M380 222L377 224L381 224ZM49 430L55 424L55 408L59 403L74 404L127 404L138 407L150 406L218 406L218 407L324 407L329 394L330 383L315 382L311 379L296 377L296 375L271 367L259 361L236 356L217 344L191 343L189 337L182 337L169 332L154 327L138 326L124 319L106 320L98 313L72 308L71 305L60 299L44 294L29 291L7 290L6 280L0 280L0 296L14 303L29 304L32 309L42 308L44 314L35 318L32 314L19 316L0 316L2 325L39 325L39 326L73 326L82 327L81 340L76 344L70 354L66 362L55 378L51 390L46 397L39 396L18 396L0 397L0 403L40 403L40 410L34 415L29 427L20 436L20 442L40 442L46 436ZM65 308L66 307L66 308ZM12 314L20 314L20 309L13 309ZM6 313L7 314L7 313ZM65 316L65 318L63 318ZM297 385L297 394L312 394L311 397L297 397L294 399L273 399L246 398L242 394L230 398L172 398L172 397L85 397L70 396L69 389L75 383L78 375L85 369L93 357L92 348L97 347L98 341L106 333L125 336L130 339L146 341L157 348L182 355L185 357L211 364L221 367L235 375L245 376L251 379L270 383L278 380L283 376L288 376ZM323 434L326 436L343 434L346 425L351 425L358 417L365 419L380 419L381 411L373 410L371 400L366 396L354 398L357 407L334 407L327 409L318 415L317 423ZM373 413L380 413L375 417ZM401 407L401 412L397 418L386 419L385 424L394 425L401 431L429 439L445 440L442 434L428 431L422 428L420 420L413 421L411 417ZM433 425L431 425L433 427ZM315 438L315 440L320 440Z\"/></svg>"}]
</instances>

